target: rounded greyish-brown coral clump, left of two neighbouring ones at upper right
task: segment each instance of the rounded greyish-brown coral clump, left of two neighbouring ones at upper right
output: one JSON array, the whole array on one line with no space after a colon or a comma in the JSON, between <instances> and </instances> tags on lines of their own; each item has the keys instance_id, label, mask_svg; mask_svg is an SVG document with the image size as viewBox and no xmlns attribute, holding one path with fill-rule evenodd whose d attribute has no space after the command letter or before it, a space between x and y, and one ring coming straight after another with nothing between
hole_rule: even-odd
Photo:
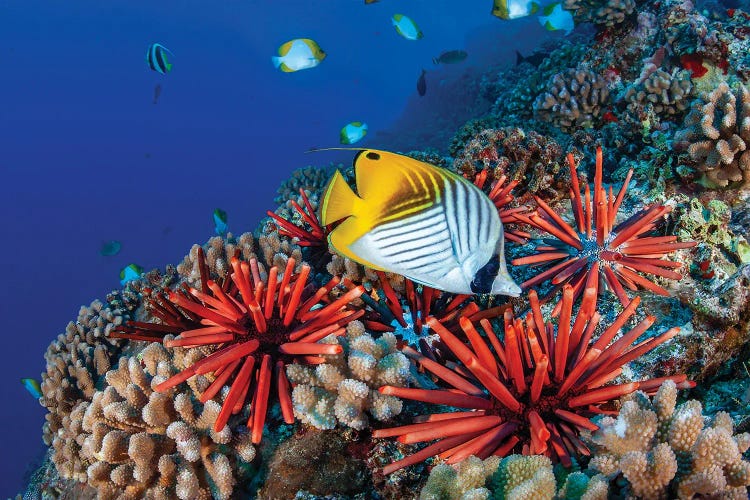
<instances>
[{"instance_id":1,"label":"rounded greyish-brown coral clump, left of two neighbouring ones at upper right","mask_svg":"<svg viewBox=\"0 0 750 500\"><path fill-rule=\"evenodd\" d=\"M573 132L597 125L608 102L607 81L581 65L550 79L546 92L534 101L534 114L564 132Z\"/></svg>"}]
</instances>

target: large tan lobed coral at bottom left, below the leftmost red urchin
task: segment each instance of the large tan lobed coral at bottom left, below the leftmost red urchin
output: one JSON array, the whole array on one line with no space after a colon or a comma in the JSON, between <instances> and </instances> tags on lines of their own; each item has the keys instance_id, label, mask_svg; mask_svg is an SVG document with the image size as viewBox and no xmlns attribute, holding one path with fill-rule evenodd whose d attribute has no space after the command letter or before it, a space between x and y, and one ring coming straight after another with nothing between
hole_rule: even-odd
<instances>
[{"instance_id":1,"label":"large tan lobed coral at bottom left, below the leftmost red urchin","mask_svg":"<svg viewBox=\"0 0 750 500\"><path fill-rule=\"evenodd\" d=\"M99 498L229 498L255 457L250 433L215 432L221 406L211 400L196 413L191 389L154 391L189 353L170 358L151 344L140 359L121 358L77 415L88 483Z\"/></svg>"}]
</instances>

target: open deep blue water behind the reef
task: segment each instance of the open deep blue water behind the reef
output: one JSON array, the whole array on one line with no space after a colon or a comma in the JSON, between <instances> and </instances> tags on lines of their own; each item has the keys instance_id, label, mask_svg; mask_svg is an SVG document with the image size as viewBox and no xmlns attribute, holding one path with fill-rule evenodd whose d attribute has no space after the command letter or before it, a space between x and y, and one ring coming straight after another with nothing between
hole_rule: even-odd
<instances>
[{"instance_id":1,"label":"open deep blue water behind the reef","mask_svg":"<svg viewBox=\"0 0 750 500\"><path fill-rule=\"evenodd\" d=\"M338 145L349 121L369 124L359 145L387 148L377 132L404 109L414 116L402 123L429 130L420 110L428 116L446 99L432 97L436 82L560 36L533 18L498 20L491 4L0 0L0 497L20 490L43 451L44 409L19 378L39 377L47 345L79 307L118 287L130 262L179 262L211 236L216 207L236 234L254 229L292 170L350 158L304 153ZM424 39L398 36L396 12ZM326 60L275 70L278 46L301 37ZM152 42L174 53L166 76L146 66ZM469 51L465 63L432 65L456 48ZM420 99L422 67L430 73ZM102 257L109 239L122 252Z\"/></svg>"}]
</instances>

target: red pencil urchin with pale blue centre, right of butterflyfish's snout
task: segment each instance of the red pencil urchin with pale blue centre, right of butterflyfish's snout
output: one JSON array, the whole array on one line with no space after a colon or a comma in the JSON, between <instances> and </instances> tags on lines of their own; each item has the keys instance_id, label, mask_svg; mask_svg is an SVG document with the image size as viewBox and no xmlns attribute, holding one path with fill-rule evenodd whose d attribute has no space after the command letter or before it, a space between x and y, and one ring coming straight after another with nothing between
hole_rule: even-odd
<instances>
[{"instance_id":1,"label":"red pencil urchin with pale blue centre, right of butterflyfish's snout","mask_svg":"<svg viewBox=\"0 0 750 500\"><path fill-rule=\"evenodd\" d=\"M674 280L682 278L682 275L675 271L681 264L664 257L675 250L693 247L696 242L677 242L677 236L651 235L659 219L672 208L667 205L652 205L615 224L633 170L628 172L617 196L612 192L611 186L607 193L602 187L602 150L597 148L594 192L591 193L589 185L586 184L582 197L572 154L568 154L568 164L572 184L570 204L575 218L574 227L563 221L539 197L535 197L539 205L536 213L528 217L523 214L516 215L523 222L555 238L545 239L544 244L536 247L536 254L512 261L515 266L554 264L522 283L521 288L528 290L551 279L552 284L556 285L552 293L559 290L563 284L570 283L574 296L578 298L586 286L593 286L599 294L599 278L602 278L624 306L630 302L625 288L631 291L644 288L668 296L667 290L640 273ZM596 275L596 279L587 280L588 274ZM586 285L587 281L589 285ZM555 313L558 312L559 308Z\"/></svg>"}]
</instances>

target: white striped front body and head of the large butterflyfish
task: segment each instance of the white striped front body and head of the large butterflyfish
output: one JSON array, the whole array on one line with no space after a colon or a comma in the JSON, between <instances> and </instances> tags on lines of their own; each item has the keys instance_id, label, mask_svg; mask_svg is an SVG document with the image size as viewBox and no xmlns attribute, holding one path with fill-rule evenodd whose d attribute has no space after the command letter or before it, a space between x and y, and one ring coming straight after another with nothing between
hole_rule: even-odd
<instances>
[{"instance_id":1,"label":"white striped front body and head of the large butterflyfish","mask_svg":"<svg viewBox=\"0 0 750 500\"><path fill-rule=\"evenodd\" d=\"M381 222L351 249L439 290L517 296L520 289L506 270L503 226L492 201L447 171L411 175L421 193L392 200Z\"/></svg>"}]
</instances>

